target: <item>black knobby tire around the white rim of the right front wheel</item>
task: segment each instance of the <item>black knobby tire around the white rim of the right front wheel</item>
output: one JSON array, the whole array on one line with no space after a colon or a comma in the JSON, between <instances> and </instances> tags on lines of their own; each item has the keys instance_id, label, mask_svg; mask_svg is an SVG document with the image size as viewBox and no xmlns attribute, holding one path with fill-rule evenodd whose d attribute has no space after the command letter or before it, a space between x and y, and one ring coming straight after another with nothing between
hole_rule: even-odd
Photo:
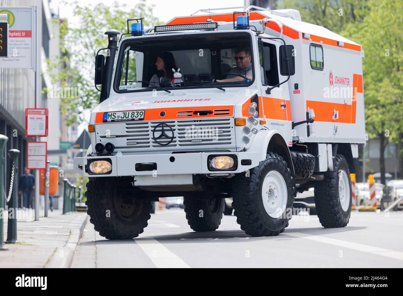
<instances>
[{"instance_id":1,"label":"black knobby tire around the white rim of the right front wheel","mask_svg":"<svg viewBox=\"0 0 403 296\"><path fill-rule=\"evenodd\" d=\"M288 226L291 216L273 218L264 209L262 200L262 185L264 178L270 171L278 171L287 185L286 210L292 213L294 186L291 179L291 171L287 162L276 153L268 152L266 159L259 166L249 170L249 177L244 173L233 177L233 203L234 215L237 223L246 234L251 236L276 236Z\"/></svg>"}]
</instances>

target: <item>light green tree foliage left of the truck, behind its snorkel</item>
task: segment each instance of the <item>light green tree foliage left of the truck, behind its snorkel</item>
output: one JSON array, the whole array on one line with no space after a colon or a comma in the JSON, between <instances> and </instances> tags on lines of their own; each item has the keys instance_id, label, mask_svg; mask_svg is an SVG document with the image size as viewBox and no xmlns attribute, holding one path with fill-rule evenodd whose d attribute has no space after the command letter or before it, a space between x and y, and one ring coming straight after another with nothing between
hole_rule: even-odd
<instances>
[{"instance_id":1,"label":"light green tree foliage left of the truck, behind its snorkel","mask_svg":"<svg viewBox=\"0 0 403 296\"><path fill-rule=\"evenodd\" d=\"M118 2L111 6L81 6L79 2L68 5L75 6L73 11L79 21L60 22L61 54L48 61L48 74L52 82L60 82L61 87L80 88L79 98L69 95L60 99L65 122L71 125L73 122L83 122L83 111L93 109L99 103L100 93L95 89L93 80L94 62L98 49L108 45L105 31L116 29L127 33L127 19L141 16L145 18L145 28L161 23L153 16L153 6L148 6L145 0L140 0L139 4L131 8Z\"/></svg>"}]
</instances>

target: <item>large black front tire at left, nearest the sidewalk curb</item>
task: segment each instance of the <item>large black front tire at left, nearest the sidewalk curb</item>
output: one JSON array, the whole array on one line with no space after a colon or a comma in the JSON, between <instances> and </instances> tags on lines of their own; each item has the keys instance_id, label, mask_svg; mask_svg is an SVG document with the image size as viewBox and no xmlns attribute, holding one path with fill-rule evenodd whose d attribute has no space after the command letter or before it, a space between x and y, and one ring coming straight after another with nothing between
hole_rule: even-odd
<instances>
[{"instance_id":1,"label":"large black front tire at left, nearest the sidewalk curb","mask_svg":"<svg viewBox=\"0 0 403 296\"><path fill-rule=\"evenodd\" d=\"M130 178L120 177L89 178L85 204L88 207L89 221L100 236L108 239L131 239L139 236L147 227L147 221L151 218L150 201L127 195L122 197L116 193L119 191L118 186L130 186L130 181ZM120 209L117 208L119 205ZM122 212L132 214L122 216Z\"/></svg>"}]
</instances>

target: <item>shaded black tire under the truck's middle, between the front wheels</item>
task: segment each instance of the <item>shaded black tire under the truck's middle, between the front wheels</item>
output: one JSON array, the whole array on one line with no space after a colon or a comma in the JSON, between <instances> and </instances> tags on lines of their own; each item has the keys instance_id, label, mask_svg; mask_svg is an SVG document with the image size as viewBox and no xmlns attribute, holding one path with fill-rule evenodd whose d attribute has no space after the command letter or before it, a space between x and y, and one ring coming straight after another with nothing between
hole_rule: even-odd
<instances>
[{"instance_id":1,"label":"shaded black tire under the truck's middle, between the front wheels","mask_svg":"<svg viewBox=\"0 0 403 296\"><path fill-rule=\"evenodd\" d=\"M210 207L210 203L214 203L214 206ZM223 198L196 199L183 197L187 224L197 232L216 230L221 224L224 203Z\"/></svg>"}]
</instances>

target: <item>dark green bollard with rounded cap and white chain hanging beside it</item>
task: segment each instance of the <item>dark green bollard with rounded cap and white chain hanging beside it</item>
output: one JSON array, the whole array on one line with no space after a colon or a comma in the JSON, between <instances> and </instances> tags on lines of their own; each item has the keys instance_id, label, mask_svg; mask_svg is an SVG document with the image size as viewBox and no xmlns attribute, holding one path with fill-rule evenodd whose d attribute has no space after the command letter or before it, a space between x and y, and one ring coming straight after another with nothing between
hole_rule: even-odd
<instances>
[{"instance_id":1,"label":"dark green bollard with rounded cap and white chain hanging beside it","mask_svg":"<svg viewBox=\"0 0 403 296\"><path fill-rule=\"evenodd\" d=\"M10 189L11 197L8 201L8 224L7 224L7 240L8 244L17 243L17 174L18 174L18 154L20 151L17 149L8 150L8 157L10 157L11 168L14 166L14 171L10 170ZM12 184L12 187L11 187ZM8 198L8 197L7 197ZM12 213L14 212L14 214Z\"/></svg>"}]
</instances>

